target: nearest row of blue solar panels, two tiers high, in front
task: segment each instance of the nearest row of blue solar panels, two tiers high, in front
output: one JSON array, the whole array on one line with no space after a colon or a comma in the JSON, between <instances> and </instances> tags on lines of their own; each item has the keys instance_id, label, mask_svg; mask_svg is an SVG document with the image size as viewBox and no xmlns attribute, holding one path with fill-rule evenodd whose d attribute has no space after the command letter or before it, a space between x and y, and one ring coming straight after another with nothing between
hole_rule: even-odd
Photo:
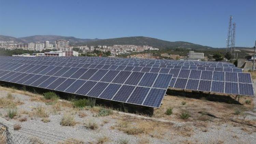
<instances>
[{"instance_id":1,"label":"nearest row of blue solar panels, two tiers high, in front","mask_svg":"<svg viewBox=\"0 0 256 144\"><path fill-rule=\"evenodd\" d=\"M151 107L160 106L172 78L171 74L84 68L44 75L0 70L0 76L0 81Z\"/></svg>"}]
</instances>

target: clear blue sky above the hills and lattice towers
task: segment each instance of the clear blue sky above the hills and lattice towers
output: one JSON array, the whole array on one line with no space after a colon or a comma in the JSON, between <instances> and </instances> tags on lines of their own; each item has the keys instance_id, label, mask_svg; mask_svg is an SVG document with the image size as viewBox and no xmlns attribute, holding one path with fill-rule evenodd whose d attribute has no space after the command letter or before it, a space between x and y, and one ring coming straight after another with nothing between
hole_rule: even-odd
<instances>
[{"instance_id":1,"label":"clear blue sky above the hills and lattice towers","mask_svg":"<svg viewBox=\"0 0 256 144\"><path fill-rule=\"evenodd\" d=\"M253 47L256 0L0 0L0 35L145 36L226 47L229 15L236 46Z\"/></svg>"}]
</instances>

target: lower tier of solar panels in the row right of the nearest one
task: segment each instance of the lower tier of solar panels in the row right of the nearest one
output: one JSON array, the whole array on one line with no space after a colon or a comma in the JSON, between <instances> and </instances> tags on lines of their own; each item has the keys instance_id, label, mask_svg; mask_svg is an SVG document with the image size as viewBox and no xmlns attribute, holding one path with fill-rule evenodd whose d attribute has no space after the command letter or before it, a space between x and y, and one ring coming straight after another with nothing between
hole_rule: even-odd
<instances>
[{"instance_id":1,"label":"lower tier of solar panels in the row right of the nearest one","mask_svg":"<svg viewBox=\"0 0 256 144\"><path fill-rule=\"evenodd\" d=\"M253 85L245 83L172 78L170 86L178 89L254 96Z\"/></svg>"}]
</instances>

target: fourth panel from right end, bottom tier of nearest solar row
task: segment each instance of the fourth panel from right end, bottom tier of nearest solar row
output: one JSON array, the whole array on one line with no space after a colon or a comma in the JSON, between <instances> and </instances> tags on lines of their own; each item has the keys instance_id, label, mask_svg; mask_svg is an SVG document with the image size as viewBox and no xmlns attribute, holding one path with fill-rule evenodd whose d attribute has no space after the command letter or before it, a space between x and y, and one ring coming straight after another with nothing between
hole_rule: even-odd
<instances>
[{"instance_id":1,"label":"fourth panel from right end, bottom tier of nearest solar row","mask_svg":"<svg viewBox=\"0 0 256 144\"><path fill-rule=\"evenodd\" d=\"M111 100L121 86L122 85L119 84L109 84L108 87L106 87L106 89L101 93L99 98Z\"/></svg>"}]
</instances>

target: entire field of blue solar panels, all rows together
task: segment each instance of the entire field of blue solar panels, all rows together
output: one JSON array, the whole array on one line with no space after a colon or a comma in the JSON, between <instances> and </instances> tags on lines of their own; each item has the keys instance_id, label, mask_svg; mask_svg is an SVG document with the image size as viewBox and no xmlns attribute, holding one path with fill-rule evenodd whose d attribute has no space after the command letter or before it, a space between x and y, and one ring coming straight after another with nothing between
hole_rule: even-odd
<instances>
[{"instance_id":1,"label":"entire field of blue solar panels, all rows together","mask_svg":"<svg viewBox=\"0 0 256 144\"><path fill-rule=\"evenodd\" d=\"M105 57L0 57L0 81L159 107L174 88L254 96L250 73L227 62Z\"/></svg>"}]
</instances>

